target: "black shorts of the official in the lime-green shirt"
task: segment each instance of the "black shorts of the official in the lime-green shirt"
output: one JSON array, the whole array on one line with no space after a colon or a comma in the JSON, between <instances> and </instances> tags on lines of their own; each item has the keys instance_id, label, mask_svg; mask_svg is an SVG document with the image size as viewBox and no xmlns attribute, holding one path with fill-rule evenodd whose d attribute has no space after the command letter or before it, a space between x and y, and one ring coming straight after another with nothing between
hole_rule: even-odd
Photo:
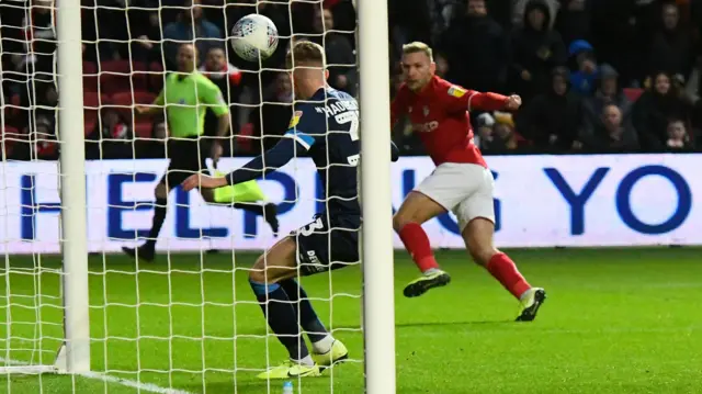
<instances>
[{"instance_id":1,"label":"black shorts of the official in the lime-green shirt","mask_svg":"<svg viewBox=\"0 0 702 394\"><path fill-rule=\"evenodd\" d=\"M205 139L192 137L188 139L168 139L166 156L170 159L166 175L168 190L180 185L188 177L197 172L205 172L205 159L210 156L205 149Z\"/></svg>"}]
</instances>

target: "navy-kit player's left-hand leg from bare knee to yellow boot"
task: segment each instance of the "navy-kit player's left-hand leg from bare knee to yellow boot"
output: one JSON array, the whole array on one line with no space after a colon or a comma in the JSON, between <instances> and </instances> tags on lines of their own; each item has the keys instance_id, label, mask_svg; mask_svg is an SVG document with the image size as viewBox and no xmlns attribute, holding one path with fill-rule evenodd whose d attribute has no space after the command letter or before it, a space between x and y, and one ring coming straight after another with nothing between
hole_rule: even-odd
<instances>
[{"instance_id":1,"label":"navy-kit player's left-hand leg from bare knee to yellow boot","mask_svg":"<svg viewBox=\"0 0 702 394\"><path fill-rule=\"evenodd\" d=\"M260 373L259 379L291 379L320 374L319 367L301 336L296 308L280 284L297 274L295 254L295 241L290 237L285 238L261 256L249 273L251 289L263 309L263 315L290 354L287 361Z\"/></svg>"}]
</instances>

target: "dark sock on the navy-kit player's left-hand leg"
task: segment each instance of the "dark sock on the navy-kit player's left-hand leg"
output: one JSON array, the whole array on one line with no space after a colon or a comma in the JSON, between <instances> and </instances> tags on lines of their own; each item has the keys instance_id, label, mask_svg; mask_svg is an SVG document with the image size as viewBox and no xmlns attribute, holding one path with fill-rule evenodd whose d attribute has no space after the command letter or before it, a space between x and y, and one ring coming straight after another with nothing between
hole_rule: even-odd
<instances>
[{"instance_id":1,"label":"dark sock on the navy-kit player's left-hand leg","mask_svg":"<svg viewBox=\"0 0 702 394\"><path fill-rule=\"evenodd\" d=\"M309 356L307 346L299 334L297 314L287 294L278 283L265 285L249 280L253 294L263 309L268 325L275 333L293 360L302 360ZM265 303L267 301L268 304ZM268 308L268 311L267 311Z\"/></svg>"}]
</instances>

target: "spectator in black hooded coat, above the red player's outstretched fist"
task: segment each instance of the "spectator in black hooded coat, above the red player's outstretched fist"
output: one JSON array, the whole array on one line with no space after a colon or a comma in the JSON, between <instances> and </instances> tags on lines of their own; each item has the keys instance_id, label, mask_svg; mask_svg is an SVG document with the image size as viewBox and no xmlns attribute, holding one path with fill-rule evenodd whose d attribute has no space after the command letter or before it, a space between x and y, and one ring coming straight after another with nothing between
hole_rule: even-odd
<instances>
[{"instance_id":1,"label":"spectator in black hooded coat, above the red player's outstretched fist","mask_svg":"<svg viewBox=\"0 0 702 394\"><path fill-rule=\"evenodd\" d=\"M563 40L550 29L552 20L544 0L530 0L523 27L512 33L512 89L524 100L546 90L551 70L566 64Z\"/></svg>"}]
</instances>

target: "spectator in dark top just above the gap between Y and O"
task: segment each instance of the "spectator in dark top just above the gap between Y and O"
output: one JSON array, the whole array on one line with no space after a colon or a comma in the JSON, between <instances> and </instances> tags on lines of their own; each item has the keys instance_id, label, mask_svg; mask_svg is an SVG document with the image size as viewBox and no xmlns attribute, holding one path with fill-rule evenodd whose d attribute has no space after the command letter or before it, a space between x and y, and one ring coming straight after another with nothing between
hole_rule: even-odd
<instances>
[{"instance_id":1,"label":"spectator in dark top just above the gap between Y and O","mask_svg":"<svg viewBox=\"0 0 702 394\"><path fill-rule=\"evenodd\" d=\"M622 110L613 102L605 104L595 127L582 130L585 149L593 153L634 153L638 149L636 131L624 122Z\"/></svg>"}]
</instances>

